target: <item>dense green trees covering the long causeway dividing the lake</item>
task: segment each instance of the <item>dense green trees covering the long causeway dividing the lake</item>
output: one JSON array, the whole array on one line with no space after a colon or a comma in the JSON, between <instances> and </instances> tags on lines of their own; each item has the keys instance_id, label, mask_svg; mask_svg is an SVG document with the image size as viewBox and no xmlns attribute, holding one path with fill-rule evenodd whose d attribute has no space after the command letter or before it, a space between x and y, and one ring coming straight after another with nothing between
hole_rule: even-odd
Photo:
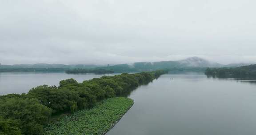
<instances>
[{"instance_id":1,"label":"dense green trees covering the long causeway dividing the lake","mask_svg":"<svg viewBox=\"0 0 256 135\"><path fill-rule=\"evenodd\" d=\"M60 85L42 85L27 94L0 96L0 135L42 135L52 115L93 107L97 102L132 91L151 82L164 70L103 76L83 83L75 79Z\"/></svg>"}]
</instances>

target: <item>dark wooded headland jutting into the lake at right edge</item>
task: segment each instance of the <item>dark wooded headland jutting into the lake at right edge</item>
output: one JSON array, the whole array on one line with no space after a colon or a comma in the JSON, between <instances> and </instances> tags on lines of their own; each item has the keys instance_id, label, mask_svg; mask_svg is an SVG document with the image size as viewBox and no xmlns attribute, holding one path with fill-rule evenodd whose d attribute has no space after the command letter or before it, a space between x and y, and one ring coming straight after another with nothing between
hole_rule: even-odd
<instances>
[{"instance_id":1,"label":"dark wooded headland jutting into the lake at right edge","mask_svg":"<svg viewBox=\"0 0 256 135\"><path fill-rule=\"evenodd\" d=\"M235 68L207 68L205 74L212 76L254 76L256 75L256 64Z\"/></svg>"}]
</instances>

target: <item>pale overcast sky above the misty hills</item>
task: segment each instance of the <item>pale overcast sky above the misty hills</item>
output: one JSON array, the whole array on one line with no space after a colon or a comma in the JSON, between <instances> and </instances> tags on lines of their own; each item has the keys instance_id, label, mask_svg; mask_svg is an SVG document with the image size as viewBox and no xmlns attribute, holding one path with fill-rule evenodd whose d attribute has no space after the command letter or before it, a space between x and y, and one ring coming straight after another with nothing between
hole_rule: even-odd
<instances>
[{"instance_id":1,"label":"pale overcast sky above the misty hills","mask_svg":"<svg viewBox=\"0 0 256 135\"><path fill-rule=\"evenodd\" d=\"M256 63L255 0L0 0L1 64Z\"/></svg>"}]
</instances>

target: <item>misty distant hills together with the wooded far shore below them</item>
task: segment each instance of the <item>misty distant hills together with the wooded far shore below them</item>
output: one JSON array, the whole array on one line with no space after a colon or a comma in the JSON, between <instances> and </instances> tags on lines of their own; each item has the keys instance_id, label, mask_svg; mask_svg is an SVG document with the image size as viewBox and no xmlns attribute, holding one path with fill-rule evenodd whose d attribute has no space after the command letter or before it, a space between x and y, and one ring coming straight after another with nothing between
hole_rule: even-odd
<instances>
[{"instance_id":1,"label":"misty distant hills together with the wooded far shore below them","mask_svg":"<svg viewBox=\"0 0 256 135\"><path fill-rule=\"evenodd\" d=\"M239 67L247 64L228 64L223 65L199 57L190 57L176 61L156 61L156 62L136 62L132 64L116 65L90 65L90 64L16 64L0 65L2 71L66 71L67 73L123 73L141 72L166 69L169 71L205 71L207 67Z\"/></svg>"}]
</instances>

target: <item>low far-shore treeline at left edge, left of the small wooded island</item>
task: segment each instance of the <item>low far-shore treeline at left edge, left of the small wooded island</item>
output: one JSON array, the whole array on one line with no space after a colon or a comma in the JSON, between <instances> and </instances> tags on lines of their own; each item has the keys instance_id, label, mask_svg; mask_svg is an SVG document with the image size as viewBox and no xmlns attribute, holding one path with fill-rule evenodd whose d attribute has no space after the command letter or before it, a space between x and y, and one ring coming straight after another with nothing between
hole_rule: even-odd
<instances>
[{"instance_id":1,"label":"low far-shore treeline at left edge, left of the small wooded island","mask_svg":"<svg viewBox=\"0 0 256 135\"><path fill-rule=\"evenodd\" d=\"M8 71L66 71L67 68L23 68L23 67L15 67L15 68L0 68L0 72L8 72Z\"/></svg>"}]
</instances>

